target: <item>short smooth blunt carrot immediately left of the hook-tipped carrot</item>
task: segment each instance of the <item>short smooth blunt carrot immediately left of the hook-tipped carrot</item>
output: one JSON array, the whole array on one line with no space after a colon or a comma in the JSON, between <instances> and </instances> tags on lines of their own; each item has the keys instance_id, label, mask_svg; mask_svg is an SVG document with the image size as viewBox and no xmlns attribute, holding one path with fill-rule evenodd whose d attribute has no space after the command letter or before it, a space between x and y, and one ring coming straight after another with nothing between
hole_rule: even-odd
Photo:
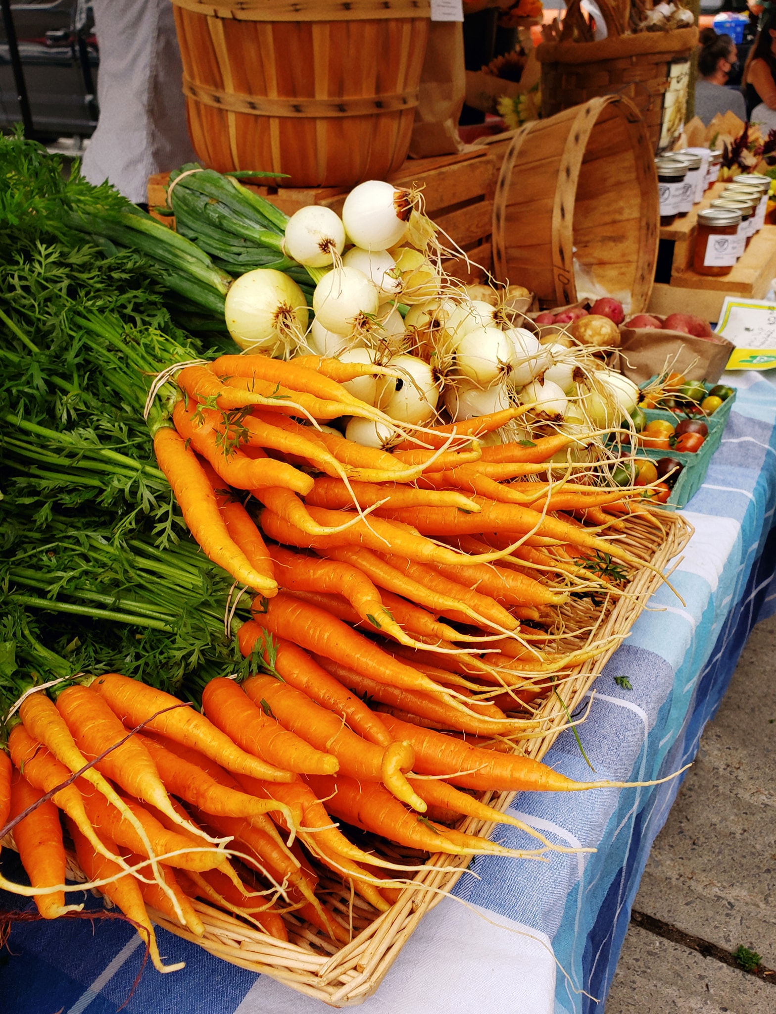
<instances>
[{"instance_id":1,"label":"short smooth blunt carrot immediately left of the hook-tipped carrot","mask_svg":"<svg viewBox=\"0 0 776 1014\"><path fill-rule=\"evenodd\" d=\"M246 753L275 763L286 771L313 775L333 775L337 771L336 757L330 751L315 749L307 737L288 732L274 717L257 708L233 679L220 676L209 680L202 701L205 714L213 724ZM200 809L208 809L201 803L197 805Z\"/></svg>"}]
</instances>

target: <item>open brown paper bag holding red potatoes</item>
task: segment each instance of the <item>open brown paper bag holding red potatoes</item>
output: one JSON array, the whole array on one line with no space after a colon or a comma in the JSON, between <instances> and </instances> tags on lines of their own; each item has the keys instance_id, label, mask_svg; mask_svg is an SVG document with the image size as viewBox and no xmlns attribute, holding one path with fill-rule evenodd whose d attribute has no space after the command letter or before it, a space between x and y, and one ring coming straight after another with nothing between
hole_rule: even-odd
<instances>
[{"instance_id":1,"label":"open brown paper bag holding red potatoes","mask_svg":"<svg viewBox=\"0 0 776 1014\"><path fill-rule=\"evenodd\" d=\"M721 335L695 338L656 328L620 329L620 369L639 386L666 369L716 383L734 346Z\"/></svg>"}]
</instances>

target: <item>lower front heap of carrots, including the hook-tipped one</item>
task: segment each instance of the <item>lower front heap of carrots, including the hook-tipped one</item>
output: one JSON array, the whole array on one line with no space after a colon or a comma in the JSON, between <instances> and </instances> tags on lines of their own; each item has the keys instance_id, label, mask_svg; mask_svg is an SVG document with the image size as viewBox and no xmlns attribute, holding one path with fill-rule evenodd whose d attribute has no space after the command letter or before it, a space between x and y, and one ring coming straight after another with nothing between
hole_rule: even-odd
<instances>
[{"instance_id":1,"label":"lower front heap of carrots, including the hook-tipped one","mask_svg":"<svg viewBox=\"0 0 776 1014\"><path fill-rule=\"evenodd\" d=\"M245 650L262 639L252 622L240 633ZM0 886L31 895L45 919L81 908L66 892L96 887L160 971L180 965L162 962L152 917L202 937L203 916L221 910L279 940L336 946L354 913L388 910L418 855L569 851L462 790L615 784L373 711L303 649L261 643L271 674L213 679L203 714L119 674L57 687L56 703L25 695L0 752L0 837L12 832L31 886ZM60 813L85 884L66 883ZM537 848L458 831L461 816L514 824Z\"/></svg>"}]
</instances>

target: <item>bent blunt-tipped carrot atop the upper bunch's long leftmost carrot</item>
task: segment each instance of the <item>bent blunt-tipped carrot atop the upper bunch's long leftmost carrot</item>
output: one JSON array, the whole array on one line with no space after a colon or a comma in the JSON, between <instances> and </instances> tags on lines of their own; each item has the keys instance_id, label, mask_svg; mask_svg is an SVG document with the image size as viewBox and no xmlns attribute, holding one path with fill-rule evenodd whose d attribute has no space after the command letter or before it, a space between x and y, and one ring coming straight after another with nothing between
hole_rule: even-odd
<instances>
[{"instance_id":1,"label":"bent blunt-tipped carrot atop the upper bunch's long leftmost carrot","mask_svg":"<svg viewBox=\"0 0 776 1014\"><path fill-rule=\"evenodd\" d=\"M309 476L285 461L262 457L255 461L240 450L229 450L212 424L198 416L196 402L185 406L181 399L172 413L172 421L178 435L190 442L191 447L206 458L221 479L240 490L252 490L257 486L287 486L298 493L308 493L313 487Z\"/></svg>"}]
</instances>

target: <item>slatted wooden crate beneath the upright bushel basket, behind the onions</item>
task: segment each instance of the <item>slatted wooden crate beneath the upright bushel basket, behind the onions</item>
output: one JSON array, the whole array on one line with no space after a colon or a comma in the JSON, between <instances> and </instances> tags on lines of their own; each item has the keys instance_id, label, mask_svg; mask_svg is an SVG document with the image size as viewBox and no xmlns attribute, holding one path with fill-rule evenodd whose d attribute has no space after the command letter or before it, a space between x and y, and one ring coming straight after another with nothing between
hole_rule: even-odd
<instances>
[{"instance_id":1,"label":"slatted wooden crate beneath the upright bushel basket, behind the onions","mask_svg":"<svg viewBox=\"0 0 776 1014\"><path fill-rule=\"evenodd\" d=\"M454 241L469 259L449 262L446 270L466 282L479 282L492 268L491 229L493 197L503 153L512 135L487 138L489 143L470 148L459 155L440 155L435 158L407 159L390 183L397 187L422 189L425 212L439 228L450 237L442 236L443 243L451 246ZM169 173L157 173L148 180L148 204L152 209L164 206L165 188ZM341 211L347 191L333 188L255 187L256 193L271 201L287 215L310 204L321 204ZM171 223L169 217L162 218Z\"/></svg>"}]
</instances>

